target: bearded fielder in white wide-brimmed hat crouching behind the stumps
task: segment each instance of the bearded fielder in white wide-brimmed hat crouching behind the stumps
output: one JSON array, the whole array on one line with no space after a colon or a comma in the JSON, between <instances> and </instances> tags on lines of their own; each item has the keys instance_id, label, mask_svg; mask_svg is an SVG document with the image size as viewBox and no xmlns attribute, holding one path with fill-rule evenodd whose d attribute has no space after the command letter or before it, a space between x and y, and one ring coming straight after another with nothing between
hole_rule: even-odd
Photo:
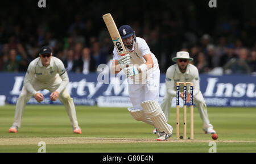
<instances>
[{"instance_id":1,"label":"bearded fielder in white wide-brimmed hat crouching behind the stumps","mask_svg":"<svg viewBox=\"0 0 256 164\"><path fill-rule=\"evenodd\" d=\"M164 95L161 108L166 115L166 119L170 115L170 107L172 98L176 97L176 82L192 82L194 85L193 100L196 104L200 117L203 120L203 131L207 134L216 133L213 129L213 125L210 124L207 105L205 104L204 97L200 91L199 86L199 71L196 66L189 64L189 61L193 61L193 58L189 57L189 53L180 51L176 53L176 57L172 58L172 61L176 64L170 66L166 72L166 94ZM183 87L180 87L180 97L183 99ZM190 99L190 87L188 87L188 101ZM154 131L153 131L154 133Z\"/></svg>"}]
</instances>

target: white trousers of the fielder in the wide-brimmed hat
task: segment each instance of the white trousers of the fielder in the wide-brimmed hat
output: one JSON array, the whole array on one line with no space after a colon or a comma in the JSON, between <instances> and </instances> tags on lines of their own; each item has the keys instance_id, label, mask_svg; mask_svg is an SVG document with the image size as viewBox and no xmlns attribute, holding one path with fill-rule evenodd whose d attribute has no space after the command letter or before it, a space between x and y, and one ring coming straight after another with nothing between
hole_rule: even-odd
<instances>
[{"instance_id":1,"label":"white trousers of the fielder in the wide-brimmed hat","mask_svg":"<svg viewBox=\"0 0 256 164\"><path fill-rule=\"evenodd\" d=\"M164 115L166 115L166 119L168 120L168 117L170 115L170 107L172 104L172 99L176 98L176 96L169 96L168 94L164 95L163 102L161 104L161 108L164 112ZM205 104L204 97L199 91L199 93L196 96L193 96L194 104L196 105L200 117L203 120L203 131L207 131L208 128L213 128L213 125L210 124L208 113L207 113L207 105Z\"/></svg>"}]
</instances>

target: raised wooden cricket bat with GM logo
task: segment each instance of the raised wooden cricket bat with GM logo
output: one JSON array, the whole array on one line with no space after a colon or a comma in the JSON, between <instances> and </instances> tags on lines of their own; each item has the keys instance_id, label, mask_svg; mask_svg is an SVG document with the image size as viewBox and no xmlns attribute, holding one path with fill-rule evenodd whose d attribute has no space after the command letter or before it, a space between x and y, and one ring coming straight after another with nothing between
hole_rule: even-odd
<instances>
[{"instance_id":1,"label":"raised wooden cricket bat with GM logo","mask_svg":"<svg viewBox=\"0 0 256 164\"><path fill-rule=\"evenodd\" d=\"M123 45L122 38L117 30L117 26L115 25L114 19L112 18L111 14L105 14L102 16L102 18L104 19L104 22L106 24L106 27L108 28L109 34L115 48L117 49L118 54L121 56L125 56L125 45Z\"/></svg>"}]
</instances>

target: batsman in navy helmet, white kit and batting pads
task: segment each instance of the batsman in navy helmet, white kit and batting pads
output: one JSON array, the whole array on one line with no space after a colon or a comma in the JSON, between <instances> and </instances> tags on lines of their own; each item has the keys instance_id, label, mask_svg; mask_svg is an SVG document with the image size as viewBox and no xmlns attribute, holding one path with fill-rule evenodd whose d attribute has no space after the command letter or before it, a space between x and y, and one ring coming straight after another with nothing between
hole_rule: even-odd
<instances>
[{"instance_id":1,"label":"batsman in navy helmet, white kit and batting pads","mask_svg":"<svg viewBox=\"0 0 256 164\"><path fill-rule=\"evenodd\" d=\"M119 27L118 31L127 54L121 57L114 48L112 72L117 74L123 70L128 78L129 97L133 104L133 108L128 108L128 111L135 120L156 127L157 141L168 140L172 136L172 127L167 124L166 116L158 103L158 60L146 41L136 37L135 31L129 25Z\"/></svg>"}]
</instances>

